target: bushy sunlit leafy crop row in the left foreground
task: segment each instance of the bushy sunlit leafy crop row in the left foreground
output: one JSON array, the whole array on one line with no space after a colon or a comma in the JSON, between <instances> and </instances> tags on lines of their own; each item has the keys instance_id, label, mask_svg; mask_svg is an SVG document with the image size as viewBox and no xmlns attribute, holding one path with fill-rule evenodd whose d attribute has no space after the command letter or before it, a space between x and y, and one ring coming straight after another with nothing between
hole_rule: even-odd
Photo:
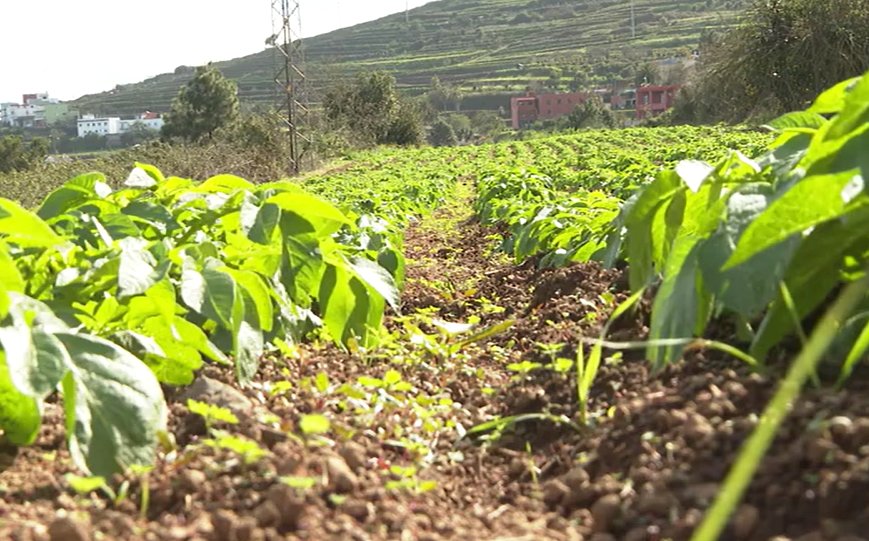
<instances>
[{"instance_id":1,"label":"bushy sunlit leafy crop row in the left foreground","mask_svg":"<svg viewBox=\"0 0 869 541\"><path fill-rule=\"evenodd\" d=\"M3 437L32 443L59 390L75 462L105 475L152 461L160 383L189 383L205 360L246 382L266 349L313 331L373 346L404 262L385 209L367 210L290 182L197 183L142 164L115 191L77 177L35 212L0 199Z\"/></svg>"}]
</instances>

